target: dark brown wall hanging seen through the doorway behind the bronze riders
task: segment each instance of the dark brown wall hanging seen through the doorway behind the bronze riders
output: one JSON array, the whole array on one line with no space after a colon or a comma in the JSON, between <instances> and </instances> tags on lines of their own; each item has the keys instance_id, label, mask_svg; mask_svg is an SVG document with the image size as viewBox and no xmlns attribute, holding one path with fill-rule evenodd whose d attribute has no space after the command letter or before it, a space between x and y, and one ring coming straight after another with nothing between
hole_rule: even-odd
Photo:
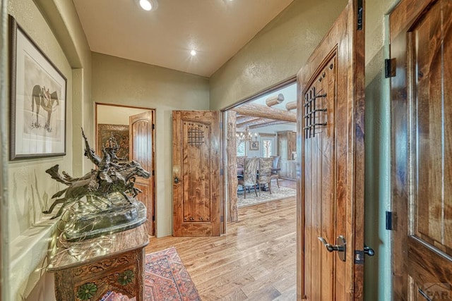
<instances>
[{"instance_id":1,"label":"dark brown wall hanging seen through the doorway behind the bronze riders","mask_svg":"<svg viewBox=\"0 0 452 301\"><path fill-rule=\"evenodd\" d=\"M119 146L117 152L119 163L129 162L129 125L97 124L97 155L102 156L102 147L112 135Z\"/></svg>"}]
</instances>

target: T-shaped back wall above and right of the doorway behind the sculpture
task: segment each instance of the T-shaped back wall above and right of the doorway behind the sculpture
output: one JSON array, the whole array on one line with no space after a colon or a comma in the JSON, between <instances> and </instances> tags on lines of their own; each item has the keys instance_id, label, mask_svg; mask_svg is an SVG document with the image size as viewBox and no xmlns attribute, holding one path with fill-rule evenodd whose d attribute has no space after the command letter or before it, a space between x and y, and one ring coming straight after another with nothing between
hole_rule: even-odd
<instances>
[{"instance_id":1,"label":"T-shaped back wall above and right of the doorway behind the sculpture","mask_svg":"<svg viewBox=\"0 0 452 301\"><path fill-rule=\"evenodd\" d=\"M93 102L155 109L156 235L171 235L172 111L208 110L208 79L93 53Z\"/></svg>"}]
</instances>

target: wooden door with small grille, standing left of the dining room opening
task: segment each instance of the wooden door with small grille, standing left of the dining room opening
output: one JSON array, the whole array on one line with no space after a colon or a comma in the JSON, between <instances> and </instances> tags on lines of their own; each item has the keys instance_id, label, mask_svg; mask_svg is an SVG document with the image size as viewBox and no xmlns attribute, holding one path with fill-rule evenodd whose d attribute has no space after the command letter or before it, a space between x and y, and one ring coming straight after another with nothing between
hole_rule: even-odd
<instances>
[{"instance_id":1,"label":"wooden door with small grille, standing left of the dining room opening","mask_svg":"<svg viewBox=\"0 0 452 301\"><path fill-rule=\"evenodd\" d=\"M172 112L172 166L173 235L220 235L218 112Z\"/></svg>"}]
</instances>

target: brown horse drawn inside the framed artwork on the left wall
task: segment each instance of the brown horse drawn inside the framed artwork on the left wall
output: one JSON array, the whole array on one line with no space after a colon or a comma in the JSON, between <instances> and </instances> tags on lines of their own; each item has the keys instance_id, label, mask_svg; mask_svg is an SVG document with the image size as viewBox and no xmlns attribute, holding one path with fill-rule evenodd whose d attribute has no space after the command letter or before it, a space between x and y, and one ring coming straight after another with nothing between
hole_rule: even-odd
<instances>
[{"instance_id":1,"label":"brown horse drawn inside the framed artwork on the left wall","mask_svg":"<svg viewBox=\"0 0 452 301\"><path fill-rule=\"evenodd\" d=\"M40 85L35 85L35 87L33 87L31 97L32 113L35 113L36 105L36 122L33 122L32 126L34 128L41 127L39 122L39 114L40 108L42 107L44 111L47 111L47 121L44 125L44 128L47 130L47 132L52 132L52 128L50 127L50 118L52 117L52 111L54 111L55 108L59 105L57 91L50 93L49 89L46 90L44 86L41 87Z\"/></svg>"}]
</instances>

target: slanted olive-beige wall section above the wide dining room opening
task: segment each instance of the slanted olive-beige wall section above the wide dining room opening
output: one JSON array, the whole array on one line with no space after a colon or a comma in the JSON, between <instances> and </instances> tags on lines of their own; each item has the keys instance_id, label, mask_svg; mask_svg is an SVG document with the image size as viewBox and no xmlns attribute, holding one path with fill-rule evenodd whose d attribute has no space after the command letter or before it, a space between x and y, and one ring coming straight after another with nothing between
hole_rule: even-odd
<instances>
[{"instance_id":1,"label":"slanted olive-beige wall section above the wide dining room opening","mask_svg":"<svg viewBox=\"0 0 452 301\"><path fill-rule=\"evenodd\" d=\"M210 78L218 110L294 77L346 0L295 0Z\"/></svg>"}]
</instances>

